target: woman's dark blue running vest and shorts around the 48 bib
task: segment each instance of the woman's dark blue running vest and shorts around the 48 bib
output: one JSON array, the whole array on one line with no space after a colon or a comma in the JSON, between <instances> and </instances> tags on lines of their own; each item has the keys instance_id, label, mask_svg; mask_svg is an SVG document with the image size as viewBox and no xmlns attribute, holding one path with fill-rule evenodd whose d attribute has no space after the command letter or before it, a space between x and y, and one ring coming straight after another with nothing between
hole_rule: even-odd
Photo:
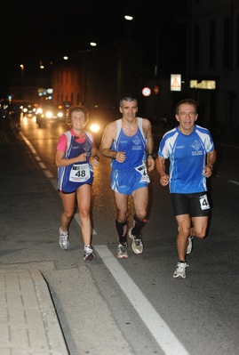
<instances>
[{"instance_id":1,"label":"woman's dark blue running vest and shorts around the 48 bib","mask_svg":"<svg viewBox=\"0 0 239 355\"><path fill-rule=\"evenodd\" d=\"M82 163L75 163L74 165L80 165L88 163L90 166L91 177L86 182L70 182L69 174L72 165L68 166L60 166L58 168L58 189L62 190L66 193L75 192L81 185L84 183L92 184L93 181L93 168L90 163L90 157L92 152L92 134L89 132L85 132L85 141L83 143L78 143L74 136L70 133L70 131L63 133L67 136L68 146L65 151L64 158L69 159L71 157L78 157L80 154L87 153L86 160Z\"/></svg>"}]
</instances>

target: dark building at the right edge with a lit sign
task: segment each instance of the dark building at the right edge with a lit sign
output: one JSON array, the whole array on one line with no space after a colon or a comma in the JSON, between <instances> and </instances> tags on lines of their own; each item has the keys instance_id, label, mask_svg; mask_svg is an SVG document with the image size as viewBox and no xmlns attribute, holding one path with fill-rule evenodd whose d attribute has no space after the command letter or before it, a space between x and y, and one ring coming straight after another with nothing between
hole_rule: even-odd
<instances>
[{"instance_id":1,"label":"dark building at the right edge with a lit sign","mask_svg":"<svg viewBox=\"0 0 239 355\"><path fill-rule=\"evenodd\" d=\"M239 131L239 0L190 0L187 84L202 125Z\"/></svg>"}]
</instances>

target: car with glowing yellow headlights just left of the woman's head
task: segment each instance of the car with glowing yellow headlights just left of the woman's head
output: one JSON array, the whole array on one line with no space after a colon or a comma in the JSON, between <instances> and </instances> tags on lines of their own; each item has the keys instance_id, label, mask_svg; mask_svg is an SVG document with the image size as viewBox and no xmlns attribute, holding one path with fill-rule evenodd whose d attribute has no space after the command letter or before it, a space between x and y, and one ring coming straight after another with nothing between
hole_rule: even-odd
<instances>
[{"instance_id":1,"label":"car with glowing yellow headlights just left of the woman's head","mask_svg":"<svg viewBox=\"0 0 239 355\"><path fill-rule=\"evenodd\" d=\"M43 102L36 109L36 124L40 126L50 121L63 122L65 119L65 109L54 105L52 102Z\"/></svg>"}]
</instances>

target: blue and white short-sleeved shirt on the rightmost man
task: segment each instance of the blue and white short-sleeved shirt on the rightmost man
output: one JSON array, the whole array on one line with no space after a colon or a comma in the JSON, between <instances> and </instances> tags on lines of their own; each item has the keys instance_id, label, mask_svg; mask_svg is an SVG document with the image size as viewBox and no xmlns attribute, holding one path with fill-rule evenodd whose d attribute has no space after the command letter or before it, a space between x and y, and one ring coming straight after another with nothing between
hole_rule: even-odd
<instances>
[{"instance_id":1,"label":"blue and white short-sleeved shirt on the rightmost man","mask_svg":"<svg viewBox=\"0 0 239 355\"><path fill-rule=\"evenodd\" d=\"M206 154L214 149L211 133L200 125L185 135L179 127L163 135L158 155L170 159L171 193L196 193L207 190L203 168L206 165Z\"/></svg>"}]
</instances>

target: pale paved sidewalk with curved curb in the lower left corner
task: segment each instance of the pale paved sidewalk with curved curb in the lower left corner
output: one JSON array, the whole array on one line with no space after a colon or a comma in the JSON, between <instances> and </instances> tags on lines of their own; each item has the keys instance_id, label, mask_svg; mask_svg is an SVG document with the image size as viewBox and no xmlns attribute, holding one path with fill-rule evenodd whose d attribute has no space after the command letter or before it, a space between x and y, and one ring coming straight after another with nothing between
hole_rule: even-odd
<instances>
[{"instance_id":1,"label":"pale paved sidewalk with curved curb in the lower left corner","mask_svg":"<svg viewBox=\"0 0 239 355\"><path fill-rule=\"evenodd\" d=\"M7 152L18 149L14 141L12 132L0 131L2 165L11 165ZM52 296L40 270L0 270L0 309L1 355L68 354Z\"/></svg>"}]
</instances>

